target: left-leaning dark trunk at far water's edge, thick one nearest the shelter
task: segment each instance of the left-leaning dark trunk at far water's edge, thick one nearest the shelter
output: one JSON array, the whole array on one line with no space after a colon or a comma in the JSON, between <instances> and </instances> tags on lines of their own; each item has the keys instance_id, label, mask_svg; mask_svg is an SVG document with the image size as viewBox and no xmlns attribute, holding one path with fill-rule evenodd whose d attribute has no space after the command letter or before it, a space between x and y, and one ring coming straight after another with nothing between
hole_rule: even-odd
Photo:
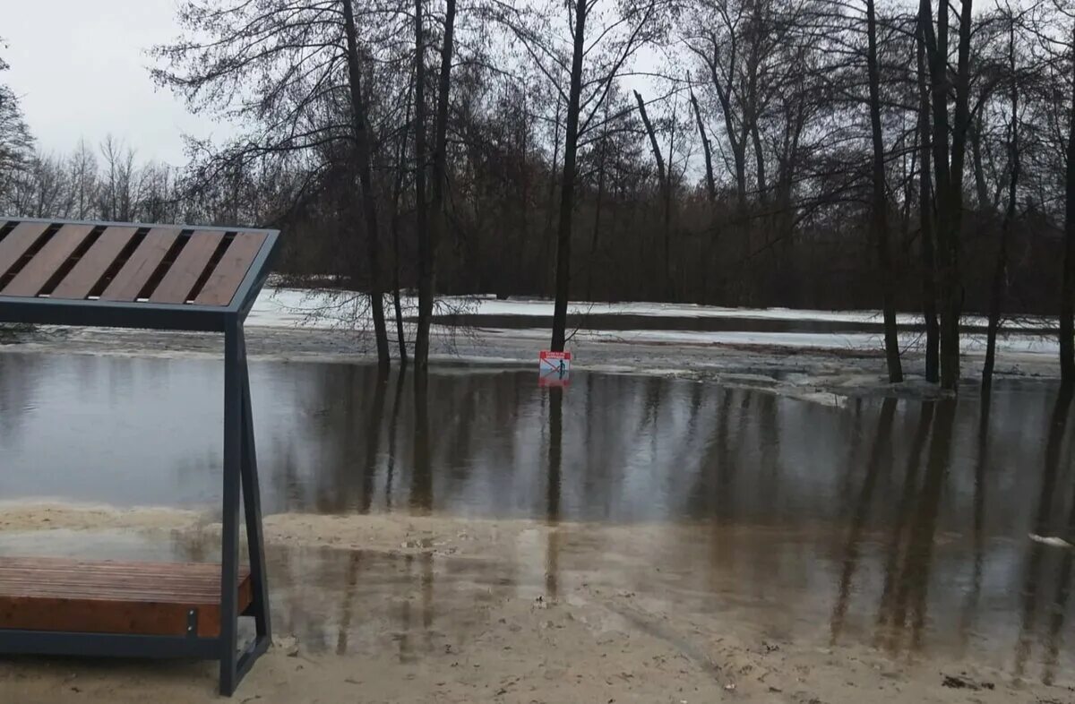
<instances>
[{"instance_id":1,"label":"left-leaning dark trunk at far water's edge, thick one nearest the shelter","mask_svg":"<svg viewBox=\"0 0 1075 704\"><path fill-rule=\"evenodd\" d=\"M419 0L420 1L420 0ZM366 220L367 256L370 259L370 312L373 315L373 333L377 345L377 363L391 363L388 351L388 329L385 326L384 288L381 284L381 242L377 228L377 205L370 173L370 129L362 98L362 72L358 66L358 34L352 0L343 1L344 28L347 33L347 74L349 77L352 121L355 129L355 160L359 185L362 188L362 216Z\"/></svg>"}]
</instances>

